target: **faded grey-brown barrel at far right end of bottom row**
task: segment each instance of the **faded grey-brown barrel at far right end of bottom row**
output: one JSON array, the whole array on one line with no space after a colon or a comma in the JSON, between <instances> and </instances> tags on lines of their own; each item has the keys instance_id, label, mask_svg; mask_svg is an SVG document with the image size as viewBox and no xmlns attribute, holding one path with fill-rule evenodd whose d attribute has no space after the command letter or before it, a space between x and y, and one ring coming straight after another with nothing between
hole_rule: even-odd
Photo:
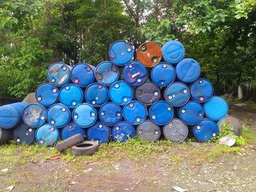
<instances>
[{"instance_id":1,"label":"faded grey-brown barrel at far right end of bottom row","mask_svg":"<svg viewBox=\"0 0 256 192\"><path fill-rule=\"evenodd\" d=\"M238 118L227 115L219 122L217 123L217 126L219 128L219 132L222 131L222 129L227 128L230 129L231 132L233 132L235 135L240 136L242 131L242 124Z\"/></svg>"}]
</instances>

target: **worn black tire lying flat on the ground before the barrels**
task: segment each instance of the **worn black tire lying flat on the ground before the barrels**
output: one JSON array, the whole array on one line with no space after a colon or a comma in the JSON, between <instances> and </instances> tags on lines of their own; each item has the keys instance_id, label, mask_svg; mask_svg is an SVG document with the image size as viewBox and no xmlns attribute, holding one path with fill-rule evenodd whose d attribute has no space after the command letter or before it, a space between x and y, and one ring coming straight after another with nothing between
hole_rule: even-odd
<instances>
[{"instance_id":1,"label":"worn black tire lying flat on the ground before the barrels","mask_svg":"<svg viewBox=\"0 0 256 192\"><path fill-rule=\"evenodd\" d=\"M71 147L71 153L73 155L93 155L99 150L99 142L80 142L77 145Z\"/></svg>"}]
</instances>

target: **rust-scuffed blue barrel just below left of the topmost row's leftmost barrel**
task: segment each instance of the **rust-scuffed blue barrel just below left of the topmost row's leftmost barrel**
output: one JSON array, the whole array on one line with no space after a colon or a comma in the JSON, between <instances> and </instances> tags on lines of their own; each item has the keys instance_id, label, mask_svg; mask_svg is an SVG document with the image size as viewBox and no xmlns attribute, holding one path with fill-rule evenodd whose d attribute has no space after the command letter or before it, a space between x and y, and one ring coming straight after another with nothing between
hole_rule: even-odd
<instances>
[{"instance_id":1,"label":"rust-scuffed blue barrel just below left of the topmost row's leftmost barrel","mask_svg":"<svg viewBox=\"0 0 256 192\"><path fill-rule=\"evenodd\" d=\"M112 85L120 76L118 66L112 64L110 61L103 61L100 63L95 71L95 78L97 82L104 85Z\"/></svg>"}]
</instances>

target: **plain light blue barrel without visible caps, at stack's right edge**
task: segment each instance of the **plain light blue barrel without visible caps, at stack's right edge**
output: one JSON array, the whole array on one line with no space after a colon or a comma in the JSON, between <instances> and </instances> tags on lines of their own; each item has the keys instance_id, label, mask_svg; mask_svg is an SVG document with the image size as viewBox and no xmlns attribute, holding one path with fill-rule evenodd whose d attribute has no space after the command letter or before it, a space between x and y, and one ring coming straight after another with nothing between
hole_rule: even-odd
<instances>
[{"instance_id":1,"label":"plain light blue barrel without visible caps, at stack's right edge","mask_svg":"<svg viewBox=\"0 0 256 192\"><path fill-rule=\"evenodd\" d=\"M203 109L205 110L206 118L220 120L227 115L228 105L220 96L213 96L203 104Z\"/></svg>"}]
</instances>

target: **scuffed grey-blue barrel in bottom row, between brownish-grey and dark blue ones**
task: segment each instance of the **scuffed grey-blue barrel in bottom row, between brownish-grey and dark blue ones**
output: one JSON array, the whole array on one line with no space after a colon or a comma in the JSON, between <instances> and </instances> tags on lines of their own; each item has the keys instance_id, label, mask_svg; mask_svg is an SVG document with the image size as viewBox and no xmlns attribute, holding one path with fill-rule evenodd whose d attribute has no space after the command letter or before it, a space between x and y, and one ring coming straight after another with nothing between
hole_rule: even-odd
<instances>
[{"instance_id":1,"label":"scuffed grey-blue barrel in bottom row, between brownish-grey and dark blue ones","mask_svg":"<svg viewBox=\"0 0 256 192\"><path fill-rule=\"evenodd\" d=\"M187 125L178 118L173 118L170 123L167 123L163 130L165 138L172 142L183 142L189 134L189 128Z\"/></svg>"}]
</instances>

